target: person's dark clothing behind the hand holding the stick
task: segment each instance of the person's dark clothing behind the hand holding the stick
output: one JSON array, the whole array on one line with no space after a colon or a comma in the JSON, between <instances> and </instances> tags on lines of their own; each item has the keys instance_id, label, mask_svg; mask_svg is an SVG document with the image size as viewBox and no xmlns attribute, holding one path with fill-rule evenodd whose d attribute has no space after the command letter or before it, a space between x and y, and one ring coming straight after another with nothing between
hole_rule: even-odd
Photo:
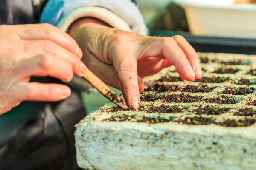
<instances>
[{"instance_id":1,"label":"person's dark clothing behind the hand holding the stick","mask_svg":"<svg viewBox=\"0 0 256 170\"><path fill-rule=\"evenodd\" d=\"M35 3L33 3L35 2ZM39 2L39 3L38 3ZM38 23L47 0L0 0L0 24ZM32 82L63 83L51 77ZM85 116L81 88L61 102L23 102L0 116L0 170L76 170L74 125Z\"/></svg>"}]
</instances>

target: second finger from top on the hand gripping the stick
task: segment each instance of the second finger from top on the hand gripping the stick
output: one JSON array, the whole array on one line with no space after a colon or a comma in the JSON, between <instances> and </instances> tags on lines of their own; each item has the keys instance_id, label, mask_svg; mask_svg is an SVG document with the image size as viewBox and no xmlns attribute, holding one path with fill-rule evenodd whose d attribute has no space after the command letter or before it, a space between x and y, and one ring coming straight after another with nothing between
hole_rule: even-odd
<instances>
[{"instance_id":1,"label":"second finger from top on the hand gripping the stick","mask_svg":"<svg viewBox=\"0 0 256 170\"><path fill-rule=\"evenodd\" d=\"M84 69L81 72L81 68L85 68L85 65L81 62L81 60L76 57L75 54L67 51L65 48L60 45L52 42L50 40L32 40L26 41L26 54L30 54L30 56L36 56L44 53L51 53L55 56L58 56L67 62L73 65L73 72L76 76L82 76L84 73ZM31 50L33 49L33 50Z\"/></svg>"}]
</instances>

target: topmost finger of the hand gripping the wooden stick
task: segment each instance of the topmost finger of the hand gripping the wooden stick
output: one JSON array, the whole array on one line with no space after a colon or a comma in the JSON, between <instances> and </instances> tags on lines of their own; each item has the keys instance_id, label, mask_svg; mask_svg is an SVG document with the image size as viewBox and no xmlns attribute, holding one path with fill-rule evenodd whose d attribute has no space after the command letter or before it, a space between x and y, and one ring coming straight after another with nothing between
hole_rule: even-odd
<instances>
[{"instance_id":1,"label":"topmost finger of the hand gripping the wooden stick","mask_svg":"<svg viewBox=\"0 0 256 170\"><path fill-rule=\"evenodd\" d=\"M50 24L26 24L14 27L23 40L50 40L82 58L82 51L76 41L64 31Z\"/></svg>"}]
</instances>

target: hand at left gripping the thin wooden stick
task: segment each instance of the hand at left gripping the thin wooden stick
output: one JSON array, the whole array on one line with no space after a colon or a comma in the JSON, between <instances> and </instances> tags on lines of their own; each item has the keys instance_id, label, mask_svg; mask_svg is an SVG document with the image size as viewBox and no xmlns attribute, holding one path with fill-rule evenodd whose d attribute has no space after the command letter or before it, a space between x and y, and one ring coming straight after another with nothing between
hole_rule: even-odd
<instances>
[{"instance_id":1,"label":"hand at left gripping the thin wooden stick","mask_svg":"<svg viewBox=\"0 0 256 170\"><path fill-rule=\"evenodd\" d=\"M29 82L51 76L69 82L82 76L82 51L67 33L49 24L0 26L0 114L25 100L59 101L71 94L59 84Z\"/></svg>"}]
</instances>

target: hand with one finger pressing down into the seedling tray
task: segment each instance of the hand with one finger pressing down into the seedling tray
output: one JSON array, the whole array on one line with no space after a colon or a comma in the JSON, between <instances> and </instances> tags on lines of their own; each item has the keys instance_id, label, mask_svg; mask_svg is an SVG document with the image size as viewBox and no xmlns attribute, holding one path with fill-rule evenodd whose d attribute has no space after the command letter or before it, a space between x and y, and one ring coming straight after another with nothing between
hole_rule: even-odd
<instances>
[{"instance_id":1,"label":"hand with one finger pressing down into the seedling tray","mask_svg":"<svg viewBox=\"0 0 256 170\"><path fill-rule=\"evenodd\" d=\"M83 51L81 60L107 85L122 90L128 107L139 108L142 78L163 68L174 65L184 80L202 77L198 55L183 37L149 37L92 20L74 23L70 35Z\"/></svg>"}]
</instances>

